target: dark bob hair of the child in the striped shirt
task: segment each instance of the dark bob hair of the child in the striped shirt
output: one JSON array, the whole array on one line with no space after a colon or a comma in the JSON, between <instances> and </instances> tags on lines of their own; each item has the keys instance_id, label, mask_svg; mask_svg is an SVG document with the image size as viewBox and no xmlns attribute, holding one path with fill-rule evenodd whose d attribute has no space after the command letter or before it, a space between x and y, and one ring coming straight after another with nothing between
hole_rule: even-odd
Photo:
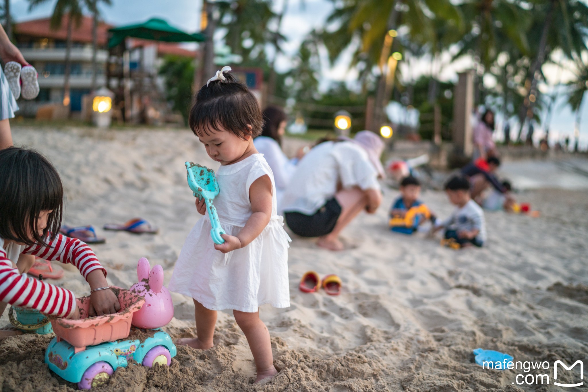
<instances>
[{"instance_id":1,"label":"dark bob hair of the child in the striped shirt","mask_svg":"<svg viewBox=\"0 0 588 392\"><path fill-rule=\"evenodd\" d=\"M18 147L0 150L1 238L28 246L47 246L47 233L51 233L51 240L59 234L63 203L64 187L49 160L35 150ZM39 235L37 221L46 210L53 212Z\"/></svg>"}]
</instances>

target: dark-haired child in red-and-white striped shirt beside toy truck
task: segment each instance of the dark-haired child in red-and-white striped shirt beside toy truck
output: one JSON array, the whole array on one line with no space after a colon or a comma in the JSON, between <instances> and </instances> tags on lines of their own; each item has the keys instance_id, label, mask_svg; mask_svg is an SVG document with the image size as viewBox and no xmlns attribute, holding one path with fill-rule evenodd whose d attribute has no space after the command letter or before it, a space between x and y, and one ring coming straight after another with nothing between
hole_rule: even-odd
<instances>
[{"instance_id":1,"label":"dark-haired child in red-and-white striped shirt beside toy truck","mask_svg":"<svg viewBox=\"0 0 588 392\"><path fill-rule=\"evenodd\" d=\"M91 289L90 316L121 309L112 290L96 290L108 283L92 249L59 234L63 199L61 179L41 154L16 147L0 150L0 315L9 303L79 319L74 293L23 273L26 254L78 267ZM17 333L0 330L0 339Z\"/></svg>"}]
</instances>

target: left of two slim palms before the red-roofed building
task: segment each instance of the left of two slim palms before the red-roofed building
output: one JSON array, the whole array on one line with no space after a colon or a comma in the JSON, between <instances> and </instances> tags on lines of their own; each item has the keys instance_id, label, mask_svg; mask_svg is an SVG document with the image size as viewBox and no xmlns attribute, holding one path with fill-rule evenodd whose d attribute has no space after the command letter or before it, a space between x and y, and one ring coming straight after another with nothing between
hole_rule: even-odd
<instances>
[{"instance_id":1,"label":"left of two slim palms before the red-roofed building","mask_svg":"<svg viewBox=\"0 0 588 392\"><path fill-rule=\"evenodd\" d=\"M36 6L46 3L49 0L29 0L29 11L35 9ZM69 72L71 68L70 64L70 53L72 47L72 28L76 25L76 28L82 24L82 6L79 0L57 0L53 14L51 15L51 28L61 28L61 23L64 16L67 15L68 26L67 26L67 39L65 46L65 74L64 74L64 106L69 106Z\"/></svg>"}]
</instances>

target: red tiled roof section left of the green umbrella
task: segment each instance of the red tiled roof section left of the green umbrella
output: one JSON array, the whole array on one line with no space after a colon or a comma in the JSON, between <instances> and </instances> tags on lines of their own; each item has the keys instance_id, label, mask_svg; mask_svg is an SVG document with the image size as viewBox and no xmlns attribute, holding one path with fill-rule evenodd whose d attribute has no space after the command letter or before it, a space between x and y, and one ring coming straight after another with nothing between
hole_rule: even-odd
<instances>
[{"instance_id":1,"label":"red tiled roof section left of the green umbrella","mask_svg":"<svg viewBox=\"0 0 588 392\"><path fill-rule=\"evenodd\" d=\"M64 16L61 23L61 28L52 30L50 25L50 18L35 19L33 21L26 21L17 23L14 26L14 33L20 35L34 36L38 38L53 38L65 41L67 38L68 16ZM112 25L104 22L98 23L98 45L105 46L108 36L108 29ZM83 16L82 23L79 28L75 24L72 28L72 41L91 43L92 42L92 18L91 16Z\"/></svg>"}]
</instances>

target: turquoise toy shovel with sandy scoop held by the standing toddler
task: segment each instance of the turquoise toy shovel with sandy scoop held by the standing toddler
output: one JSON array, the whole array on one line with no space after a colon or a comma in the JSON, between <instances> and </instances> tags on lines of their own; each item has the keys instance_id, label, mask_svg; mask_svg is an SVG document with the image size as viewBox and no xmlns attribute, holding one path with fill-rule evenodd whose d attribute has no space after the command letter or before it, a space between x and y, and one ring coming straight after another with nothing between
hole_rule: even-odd
<instances>
[{"instance_id":1,"label":"turquoise toy shovel with sandy scoop held by the standing toddler","mask_svg":"<svg viewBox=\"0 0 588 392\"><path fill-rule=\"evenodd\" d=\"M220 234L225 234L225 230L220 227L219 216L216 214L215 205L212 200L219 194L219 184L216 182L215 171L198 163L186 162L186 175L188 177L188 186L192 189L194 196L204 199L208 217L211 219L211 237L215 244L225 243Z\"/></svg>"}]
</instances>

